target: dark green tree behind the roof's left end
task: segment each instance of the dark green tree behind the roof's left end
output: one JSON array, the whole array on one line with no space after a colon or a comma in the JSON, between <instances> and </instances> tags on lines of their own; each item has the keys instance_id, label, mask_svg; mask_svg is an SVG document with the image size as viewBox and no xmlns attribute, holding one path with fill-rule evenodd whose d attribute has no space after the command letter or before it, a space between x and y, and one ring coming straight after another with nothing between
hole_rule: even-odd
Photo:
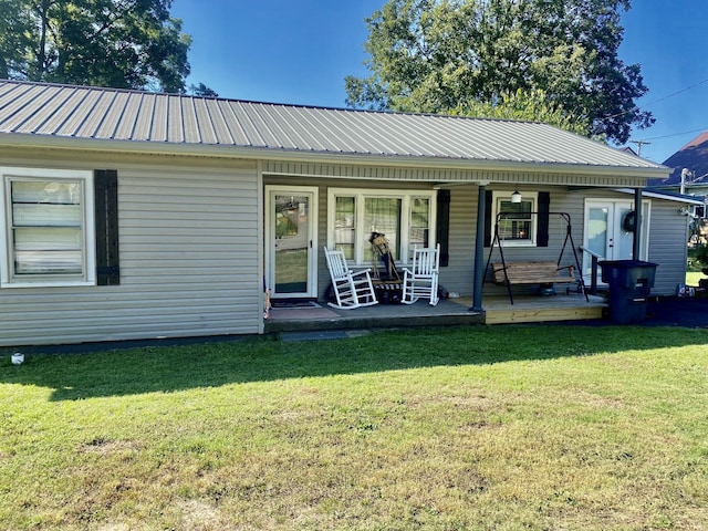
<instances>
[{"instance_id":1,"label":"dark green tree behind the roof's left end","mask_svg":"<svg viewBox=\"0 0 708 531\"><path fill-rule=\"evenodd\" d=\"M1 0L0 76L184 92L189 35L171 0Z\"/></svg>"}]
</instances>

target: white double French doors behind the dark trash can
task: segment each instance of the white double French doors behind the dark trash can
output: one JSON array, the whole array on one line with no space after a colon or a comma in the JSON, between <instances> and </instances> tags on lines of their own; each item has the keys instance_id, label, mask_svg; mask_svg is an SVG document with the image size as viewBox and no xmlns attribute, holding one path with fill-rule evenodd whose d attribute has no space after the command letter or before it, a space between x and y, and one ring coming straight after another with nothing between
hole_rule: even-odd
<instances>
[{"instance_id":1,"label":"white double French doors behind the dark trash can","mask_svg":"<svg viewBox=\"0 0 708 531\"><path fill-rule=\"evenodd\" d=\"M634 200L598 200L585 202L585 230L583 248L600 257L600 260L632 259L634 231L627 230L625 218L634 210ZM648 241L649 201L642 201L641 260L646 260ZM592 257L583 253L583 277L590 279ZM600 272L598 272L600 275ZM600 278L597 279L600 281Z\"/></svg>"}]
</instances>

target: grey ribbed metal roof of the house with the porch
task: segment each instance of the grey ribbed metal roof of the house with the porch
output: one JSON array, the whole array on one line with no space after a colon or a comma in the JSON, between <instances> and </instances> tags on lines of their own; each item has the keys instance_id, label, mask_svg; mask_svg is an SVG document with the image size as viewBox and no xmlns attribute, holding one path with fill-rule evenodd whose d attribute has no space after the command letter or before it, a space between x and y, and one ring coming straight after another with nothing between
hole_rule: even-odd
<instances>
[{"instance_id":1,"label":"grey ribbed metal roof of the house with the porch","mask_svg":"<svg viewBox=\"0 0 708 531\"><path fill-rule=\"evenodd\" d=\"M531 122L244 102L0 80L0 142L12 137L149 143L266 154L569 165L666 175L666 168ZM580 169L580 168L577 168Z\"/></svg>"}]
</instances>

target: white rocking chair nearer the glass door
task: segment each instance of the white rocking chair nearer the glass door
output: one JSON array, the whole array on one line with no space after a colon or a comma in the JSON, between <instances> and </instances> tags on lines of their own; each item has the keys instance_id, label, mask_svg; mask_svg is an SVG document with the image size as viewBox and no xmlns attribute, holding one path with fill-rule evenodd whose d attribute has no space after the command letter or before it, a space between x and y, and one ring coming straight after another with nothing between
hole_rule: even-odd
<instances>
[{"instance_id":1,"label":"white rocking chair nearer the glass door","mask_svg":"<svg viewBox=\"0 0 708 531\"><path fill-rule=\"evenodd\" d=\"M330 251L324 248L324 256L327 259L330 278L336 302L329 302L332 308L341 310L353 310L360 306L371 306L378 304L374 284L369 274L369 269L352 272L346 264L343 250Z\"/></svg>"}]
</instances>

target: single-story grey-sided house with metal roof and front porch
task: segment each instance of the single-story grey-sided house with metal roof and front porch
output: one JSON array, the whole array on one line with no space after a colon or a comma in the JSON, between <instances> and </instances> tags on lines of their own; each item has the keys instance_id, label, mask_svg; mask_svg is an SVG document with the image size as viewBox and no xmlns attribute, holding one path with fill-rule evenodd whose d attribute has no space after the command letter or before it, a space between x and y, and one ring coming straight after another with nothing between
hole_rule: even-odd
<instances>
[{"instance_id":1,"label":"single-story grey-sided house with metal roof and front porch","mask_svg":"<svg viewBox=\"0 0 708 531\"><path fill-rule=\"evenodd\" d=\"M537 123L0 81L0 345L262 333L264 284L322 300L323 246L371 266L372 230L402 266L440 243L440 283L483 305L509 209L539 214L504 227L508 260L555 260L568 212L607 259L637 233L674 294L689 204L641 196L668 173Z\"/></svg>"}]
</instances>

